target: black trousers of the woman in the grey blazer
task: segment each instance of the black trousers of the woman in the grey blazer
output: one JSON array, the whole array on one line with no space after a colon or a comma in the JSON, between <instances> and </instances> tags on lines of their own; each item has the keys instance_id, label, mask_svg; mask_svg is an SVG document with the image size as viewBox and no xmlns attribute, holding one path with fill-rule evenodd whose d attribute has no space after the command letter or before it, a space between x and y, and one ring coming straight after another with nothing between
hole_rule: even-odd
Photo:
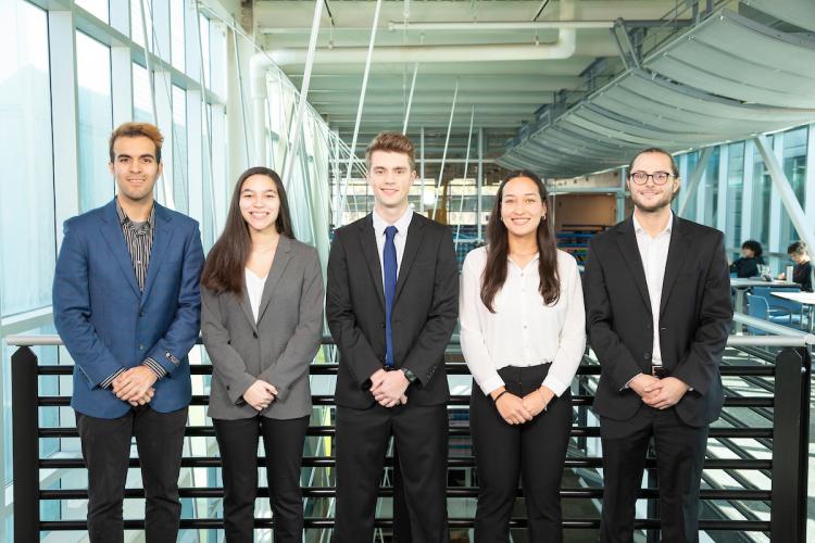
<instances>
[{"instance_id":1,"label":"black trousers of the woman in the grey blazer","mask_svg":"<svg viewBox=\"0 0 815 543\"><path fill-rule=\"evenodd\" d=\"M212 424L224 462L222 478L226 541L254 541L258 440L263 437L275 541L300 543L303 536L300 465L309 417L276 420L256 416L239 420L213 419Z\"/></svg>"}]
</instances>

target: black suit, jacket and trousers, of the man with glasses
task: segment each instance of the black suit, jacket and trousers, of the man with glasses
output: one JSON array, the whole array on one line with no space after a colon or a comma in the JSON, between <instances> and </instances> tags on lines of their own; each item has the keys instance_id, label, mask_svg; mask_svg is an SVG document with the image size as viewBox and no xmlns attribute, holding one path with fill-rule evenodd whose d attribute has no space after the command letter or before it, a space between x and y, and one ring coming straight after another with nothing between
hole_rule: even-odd
<instances>
[{"instance_id":1,"label":"black suit, jacket and trousers, of the man with glasses","mask_svg":"<svg viewBox=\"0 0 815 543\"><path fill-rule=\"evenodd\" d=\"M652 307L631 218L597 235L584 275L589 341L601 365L605 492L601 541L631 541L636 491L651 437L657 456L663 541L698 539L698 494L707 426L722 411L719 364L732 318L718 230L674 218L660 312L665 370L692 390L665 411L626 388L651 374Z\"/></svg>"}]
</instances>

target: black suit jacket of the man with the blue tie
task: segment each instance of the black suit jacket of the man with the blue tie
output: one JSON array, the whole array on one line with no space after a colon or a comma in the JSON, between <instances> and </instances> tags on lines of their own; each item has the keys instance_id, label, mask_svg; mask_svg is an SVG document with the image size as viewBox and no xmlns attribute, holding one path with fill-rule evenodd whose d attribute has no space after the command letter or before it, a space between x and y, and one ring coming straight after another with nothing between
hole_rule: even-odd
<instances>
[{"instance_id":1,"label":"black suit jacket of the man with the blue tie","mask_svg":"<svg viewBox=\"0 0 815 543\"><path fill-rule=\"evenodd\" d=\"M367 408L371 376L385 364L383 272L371 214L337 229L328 257L326 316L340 352L335 401ZM393 302L393 361L417 381L409 404L450 399L444 348L459 316L459 269L450 229L413 214Z\"/></svg>"}]
</instances>

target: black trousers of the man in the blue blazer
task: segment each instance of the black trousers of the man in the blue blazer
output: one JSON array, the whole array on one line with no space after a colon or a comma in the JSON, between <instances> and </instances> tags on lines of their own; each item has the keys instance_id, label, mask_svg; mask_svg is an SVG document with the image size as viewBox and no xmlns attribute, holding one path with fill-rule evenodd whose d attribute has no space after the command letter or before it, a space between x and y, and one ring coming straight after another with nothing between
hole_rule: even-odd
<instances>
[{"instance_id":1,"label":"black trousers of the man in the blue blazer","mask_svg":"<svg viewBox=\"0 0 815 543\"><path fill-rule=\"evenodd\" d=\"M149 405L114 419L76 413L83 458L88 468L88 535L92 543L122 543L122 504L130 458L130 441L141 465L145 487L145 535L148 543L175 543L181 504L181 468L187 407L158 413Z\"/></svg>"}]
</instances>

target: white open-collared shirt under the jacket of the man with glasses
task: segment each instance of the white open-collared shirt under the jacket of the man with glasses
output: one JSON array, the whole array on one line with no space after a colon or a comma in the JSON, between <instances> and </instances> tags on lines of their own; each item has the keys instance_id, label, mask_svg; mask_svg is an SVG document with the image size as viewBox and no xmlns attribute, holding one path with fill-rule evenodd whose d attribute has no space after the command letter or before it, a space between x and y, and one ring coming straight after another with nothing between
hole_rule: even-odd
<instances>
[{"instance_id":1,"label":"white open-collared shirt under the jacket of the man with glasses","mask_svg":"<svg viewBox=\"0 0 815 543\"><path fill-rule=\"evenodd\" d=\"M652 238L642 228L637 215L634 218L634 233L640 250L642 267L645 269L648 296L651 299L651 318L653 319L654 341L651 364L662 366L662 349L660 349L660 304L662 303L662 283L665 280L665 266L668 263L668 248L670 247L670 230L674 226L674 213L668 217L668 224L656 237Z\"/></svg>"}]
</instances>

